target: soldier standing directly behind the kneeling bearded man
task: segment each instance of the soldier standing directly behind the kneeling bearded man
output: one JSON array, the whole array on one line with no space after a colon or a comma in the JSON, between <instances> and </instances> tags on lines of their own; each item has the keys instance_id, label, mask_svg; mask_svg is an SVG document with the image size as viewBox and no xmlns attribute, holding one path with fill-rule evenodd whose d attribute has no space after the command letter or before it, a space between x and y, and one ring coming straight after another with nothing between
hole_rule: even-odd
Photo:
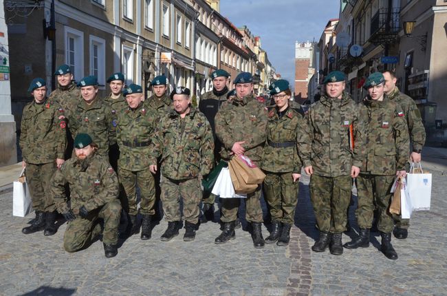
<instances>
[{"instance_id":1,"label":"soldier standing directly behind the kneeling bearded man","mask_svg":"<svg viewBox=\"0 0 447 296\"><path fill-rule=\"evenodd\" d=\"M116 142L116 120L113 121L109 104L98 96L98 79L96 76L82 78L80 87L83 100L76 105L74 112L69 112L68 127L72 136L89 134L98 145L96 154L109 159L109 145Z\"/></svg>"}]
</instances>

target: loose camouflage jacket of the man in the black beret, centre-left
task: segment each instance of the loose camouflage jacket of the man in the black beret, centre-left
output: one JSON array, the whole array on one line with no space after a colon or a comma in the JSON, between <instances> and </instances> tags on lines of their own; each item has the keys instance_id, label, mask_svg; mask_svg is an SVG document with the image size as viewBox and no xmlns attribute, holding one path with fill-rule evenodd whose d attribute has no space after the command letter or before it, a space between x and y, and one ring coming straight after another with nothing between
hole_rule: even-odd
<instances>
[{"instance_id":1,"label":"loose camouflage jacket of the man in the black beret, centre-left","mask_svg":"<svg viewBox=\"0 0 447 296\"><path fill-rule=\"evenodd\" d=\"M155 165L161 156L162 174L173 180L196 178L199 173L206 176L213 166L213 149L210 123L204 114L191 107L181 118L172 110L155 130L151 164Z\"/></svg>"}]
</instances>

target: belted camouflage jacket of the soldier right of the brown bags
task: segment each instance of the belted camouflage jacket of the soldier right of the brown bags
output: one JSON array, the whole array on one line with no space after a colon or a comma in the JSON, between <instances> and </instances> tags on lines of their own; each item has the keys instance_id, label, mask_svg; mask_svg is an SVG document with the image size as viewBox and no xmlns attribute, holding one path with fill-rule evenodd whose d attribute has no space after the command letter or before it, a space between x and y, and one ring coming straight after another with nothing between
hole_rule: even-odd
<instances>
[{"instance_id":1,"label":"belted camouflage jacket of the soldier right of the brown bags","mask_svg":"<svg viewBox=\"0 0 447 296\"><path fill-rule=\"evenodd\" d=\"M301 173L301 160L297 148L308 142L305 127L301 109L289 107L281 117L276 106L269 109L267 141L263 149L261 168L275 173L290 171ZM291 146L274 147L286 144Z\"/></svg>"}]
</instances>

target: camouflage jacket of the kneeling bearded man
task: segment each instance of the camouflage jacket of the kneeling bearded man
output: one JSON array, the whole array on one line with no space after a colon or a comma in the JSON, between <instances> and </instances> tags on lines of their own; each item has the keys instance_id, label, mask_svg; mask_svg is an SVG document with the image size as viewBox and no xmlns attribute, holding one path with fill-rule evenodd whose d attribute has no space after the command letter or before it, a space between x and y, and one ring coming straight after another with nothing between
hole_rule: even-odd
<instances>
[{"instance_id":1,"label":"camouflage jacket of the kneeling bearded man","mask_svg":"<svg viewBox=\"0 0 447 296\"><path fill-rule=\"evenodd\" d=\"M71 209L76 214L82 206L87 211L102 207L118 198L120 191L118 177L109 161L96 153L85 160L70 158L54 173L50 192L59 213L70 209L65 195L66 184L69 185Z\"/></svg>"}]
</instances>

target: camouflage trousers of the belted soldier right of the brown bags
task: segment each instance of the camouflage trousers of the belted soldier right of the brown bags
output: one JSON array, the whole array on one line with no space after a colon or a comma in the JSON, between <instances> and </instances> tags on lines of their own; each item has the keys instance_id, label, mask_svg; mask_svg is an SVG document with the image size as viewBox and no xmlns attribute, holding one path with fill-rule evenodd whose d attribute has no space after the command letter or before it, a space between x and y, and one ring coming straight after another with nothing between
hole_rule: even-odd
<instances>
[{"instance_id":1,"label":"camouflage trousers of the belted soldier right of the brown bags","mask_svg":"<svg viewBox=\"0 0 447 296\"><path fill-rule=\"evenodd\" d=\"M266 172L264 179L265 199L270 207L272 221L294 224L296 203L298 202L298 180L294 182L292 173Z\"/></svg>"}]
</instances>

